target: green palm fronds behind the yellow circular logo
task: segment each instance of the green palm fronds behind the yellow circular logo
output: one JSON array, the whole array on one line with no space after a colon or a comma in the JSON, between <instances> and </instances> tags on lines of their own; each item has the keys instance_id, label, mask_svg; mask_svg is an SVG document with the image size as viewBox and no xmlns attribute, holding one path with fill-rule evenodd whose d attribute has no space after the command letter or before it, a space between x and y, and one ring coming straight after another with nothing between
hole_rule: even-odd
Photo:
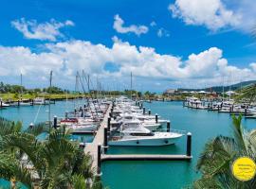
<instances>
[{"instance_id":1,"label":"green palm fronds behind the yellow circular logo","mask_svg":"<svg viewBox=\"0 0 256 189\"><path fill-rule=\"evenodd\" d=\"M244 129L241 115L232 119L232 136L218 136L206 144L196 166L202 177L194 181L193 188L256 188L255 178L245 182L236 180L230 169L239 157L247 156L256 160L256 130Z\"/></svg>"}]
</instances>

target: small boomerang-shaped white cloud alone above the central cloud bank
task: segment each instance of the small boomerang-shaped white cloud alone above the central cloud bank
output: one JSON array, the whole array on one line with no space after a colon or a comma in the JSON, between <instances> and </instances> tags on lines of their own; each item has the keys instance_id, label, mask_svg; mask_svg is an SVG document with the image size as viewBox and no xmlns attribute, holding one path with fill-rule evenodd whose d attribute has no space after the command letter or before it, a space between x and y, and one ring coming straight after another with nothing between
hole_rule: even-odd
<instances>
[{"instance_id":1,"label":"small boomerang-shaped white cloud alone above the central cloud bank","mask_svg":"<svg viewBox=\"0 0 256 189\"><path fill-rule=\"evenodd\" d=\"M115 15L113 28L116 29L116 31L119 33L135 33L137 36L139 36L149 31L149 28L147 26L123 25L124 21L119 17L119 14Z\"/></svg>"}]
</instances>

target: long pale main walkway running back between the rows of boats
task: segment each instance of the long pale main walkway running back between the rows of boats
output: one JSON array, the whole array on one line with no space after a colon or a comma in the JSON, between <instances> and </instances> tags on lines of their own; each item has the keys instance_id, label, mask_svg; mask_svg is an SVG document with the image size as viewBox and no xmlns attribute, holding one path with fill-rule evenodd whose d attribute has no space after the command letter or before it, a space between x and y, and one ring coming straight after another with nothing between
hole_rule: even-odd
<instances>
[{"instance_id":1,"label":"long pale main walkway running back between the rows of boats","mask_svg":"<svg viewBox=\"0 0 256 189\"><path fill-rule=\"evenodd\" d=\"M107 111L104 114L104 118L101 122L100 128L98 129L92 143L87 144L84 147L84 153L89 153L92 156L92 168L97 169L98 160L98 145L103 145L104 140L104 128L107 126L107 118L111 110L112 104L109 105Z\"/></svg>"}]
</instances>

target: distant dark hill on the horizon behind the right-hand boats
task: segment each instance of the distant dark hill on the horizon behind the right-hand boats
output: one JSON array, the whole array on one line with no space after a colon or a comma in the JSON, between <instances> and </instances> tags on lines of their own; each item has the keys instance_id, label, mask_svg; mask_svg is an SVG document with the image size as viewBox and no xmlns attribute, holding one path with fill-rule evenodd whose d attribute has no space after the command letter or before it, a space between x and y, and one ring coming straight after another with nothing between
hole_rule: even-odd
<instances>
[{"instance_id":1,"label":"distant dark hill on the horizon behind the right-hand boats","mask_svg":"<svg viewBox=\"0 0 256 189\"><path fill-rule=\"evenodd\" d=\"M235 91L244 87L247 87L248 85L251 84L256 84L256 80L248 80L248 81L243 81L243 82L239 82L236 84L232 84L230 86L224 86L224 91L227 92L229 91L229 89L231 91ZM209 87L209 88L201 88L201 89L184 89L184 88L180 88L178 89L178 91L207 91L207 92L219 92L221 93L223 91L223 86L213 86L213 87Z\"/></svg>"}]
</instances>

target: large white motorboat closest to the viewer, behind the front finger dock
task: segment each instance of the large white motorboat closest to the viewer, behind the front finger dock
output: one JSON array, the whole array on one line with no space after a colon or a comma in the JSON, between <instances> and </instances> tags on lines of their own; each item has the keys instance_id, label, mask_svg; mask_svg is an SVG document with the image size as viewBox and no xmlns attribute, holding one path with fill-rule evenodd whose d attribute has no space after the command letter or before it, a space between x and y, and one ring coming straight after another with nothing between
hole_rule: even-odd
<instances>
[{"instance_id":1,"label":"large white motorboat closest to the viewer, behind the front finger dock","mask_svg":"<svg viewBox=\"0 0 256 189\"><path fill-rule=\"evenodd\" d=\"M113 136L109 146L168 146L176 143L183 134L176 132L152 132L143 127L128 128Z\"/></svg>"}]
</instances>

